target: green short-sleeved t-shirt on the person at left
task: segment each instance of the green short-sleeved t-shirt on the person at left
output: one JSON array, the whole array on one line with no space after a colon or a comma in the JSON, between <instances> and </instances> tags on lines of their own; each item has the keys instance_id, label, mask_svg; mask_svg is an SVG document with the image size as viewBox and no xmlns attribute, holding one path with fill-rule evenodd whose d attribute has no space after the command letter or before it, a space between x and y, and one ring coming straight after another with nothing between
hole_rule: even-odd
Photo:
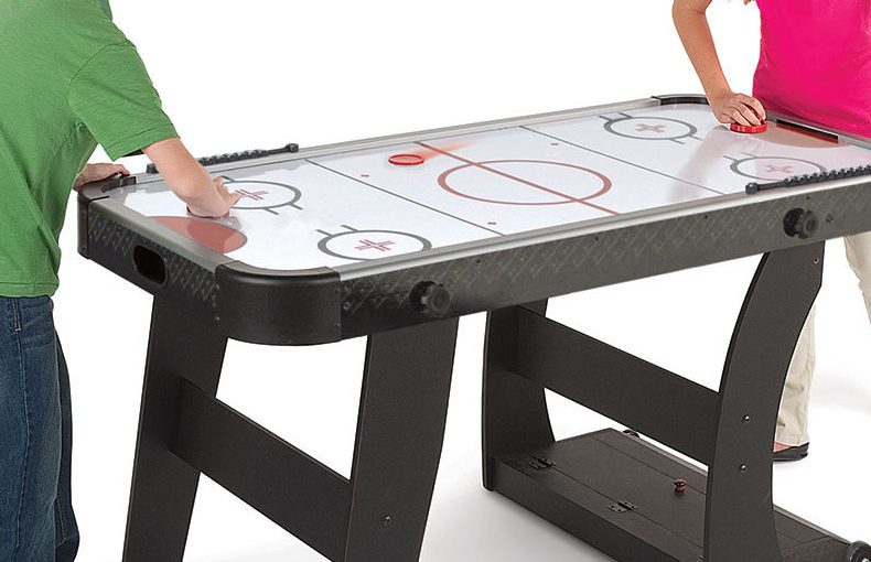
<instances>
[{"instance_id":1,"label":"green short-sleeved t-shirt on the person at left","mask_svg":"<svg viewBox=\"0 0 871 562\"><path fill-rule=\"evenodd\" d=\"M0 0L0 295L57 289L76 176L176 137L136 47L95 0Z\"/></svg>"}]
</instances>

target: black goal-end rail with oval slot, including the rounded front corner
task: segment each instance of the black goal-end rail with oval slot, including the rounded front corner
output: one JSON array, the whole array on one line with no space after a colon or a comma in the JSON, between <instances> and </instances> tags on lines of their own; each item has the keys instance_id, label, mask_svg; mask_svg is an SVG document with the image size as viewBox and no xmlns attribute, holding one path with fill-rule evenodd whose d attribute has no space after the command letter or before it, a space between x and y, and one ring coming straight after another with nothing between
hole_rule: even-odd
<instances>
[{"instance_id":1,"label":"black goal-end rail with oval slot, including the rounded front corner","mask_svg":"<svg viewBox=\"0 0 871 562\"><path fill-rule=\"evenodd\" d=\"M267 271L226 259L205 268L93 204L105 199L106 191L115 186L120 186L117 180L79 193L82 256L202 322L214 323L233 339L270 345L341 339L337 273L326 268Z\"/></svg>"}]
</instances>

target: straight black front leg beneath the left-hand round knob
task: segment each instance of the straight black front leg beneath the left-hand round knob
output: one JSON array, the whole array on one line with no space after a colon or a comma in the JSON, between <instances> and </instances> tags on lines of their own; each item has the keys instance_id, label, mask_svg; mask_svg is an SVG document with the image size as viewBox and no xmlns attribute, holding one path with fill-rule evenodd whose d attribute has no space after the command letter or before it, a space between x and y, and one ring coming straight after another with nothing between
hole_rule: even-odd
<instances>
[{"instance_id":1,"label":"straight black front leg beneath the left-hand round knob","mask_svg":"<svg viewBox=\"0 0 871 562\"><path fill-rule=\"evenodd\" d=\"M441 457L456 320L369 336L345 562L418 560Z\"/></svg>"}]
</instances>

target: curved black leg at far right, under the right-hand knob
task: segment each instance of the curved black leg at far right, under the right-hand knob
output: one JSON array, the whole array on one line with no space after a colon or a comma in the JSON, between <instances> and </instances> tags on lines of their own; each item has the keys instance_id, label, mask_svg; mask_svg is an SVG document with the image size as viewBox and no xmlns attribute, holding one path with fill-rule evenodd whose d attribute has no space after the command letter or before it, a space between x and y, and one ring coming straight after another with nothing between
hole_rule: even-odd
<instances>
[{"instance_id":1,"label":"curved black leg at far right, under the right-hand knob","mask_svg":"<svg viewBox=\"0 0 871 562\"><path fill-rule=\"evenodd\" d=\"M767 253L748 292L720 383L706 561L781 560L772 444L789 361L822 282L824 250L818 242Z\"/></svg>"}]
</instances>

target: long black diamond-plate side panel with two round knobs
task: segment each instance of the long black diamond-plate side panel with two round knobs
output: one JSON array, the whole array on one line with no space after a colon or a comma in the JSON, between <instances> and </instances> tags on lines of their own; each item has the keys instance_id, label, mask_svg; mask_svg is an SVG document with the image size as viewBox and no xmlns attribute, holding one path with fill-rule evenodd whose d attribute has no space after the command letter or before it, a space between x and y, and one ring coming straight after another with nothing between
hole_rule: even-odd
<instances>
[{"instance_id":1,"label":"long black diamond-plate side panel with two round knobs","mask_svg":"<svg viewBox=\"0 0 871 562\"><path fill-rule=\"evenodd\" d=\"M813 231L792 228L797 213ZM461 316L868 230L871 182L359 274L342 282L342 334L426 321L410 298L421 283L449 295L441 315Z\"/></svg>"}]
</instances>

